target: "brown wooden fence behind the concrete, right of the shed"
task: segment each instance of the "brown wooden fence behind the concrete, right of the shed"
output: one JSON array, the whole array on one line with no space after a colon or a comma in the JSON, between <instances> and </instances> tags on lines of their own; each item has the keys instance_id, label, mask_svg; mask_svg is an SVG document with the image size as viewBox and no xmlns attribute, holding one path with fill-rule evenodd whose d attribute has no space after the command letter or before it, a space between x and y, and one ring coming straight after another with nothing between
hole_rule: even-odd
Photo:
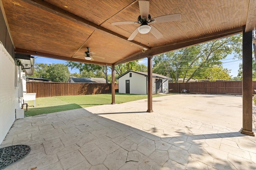
<instances>
[{"instance_id":1,"label":"brown wooden fence behind the concrete, right of the shed","mask_svg":"<svg viewBox=\"0 0 256 170\"><path fill-rule=\"evenodd\" d=\"M169 92L180 93L182 89L186 89L188 93L242 94L242 83L242 81L169 83ZM255 89L256 81L252 82L252 94Z\"/></svg>"}]
</instances>

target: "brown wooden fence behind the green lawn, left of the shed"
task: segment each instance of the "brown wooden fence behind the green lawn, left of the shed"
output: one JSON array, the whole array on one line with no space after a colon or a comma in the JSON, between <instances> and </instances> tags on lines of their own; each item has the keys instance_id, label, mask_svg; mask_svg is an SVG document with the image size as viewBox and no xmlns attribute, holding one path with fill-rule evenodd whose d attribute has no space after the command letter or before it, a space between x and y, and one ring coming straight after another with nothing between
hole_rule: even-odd
<instances>
[{"instance_id":1,"label":"brown wooden fence behind the green lawn, left of the shed","mask_svg":"<svg viewBox=\"0 0 256 170\"><path fill-rule=\"evenodd\" d=\"M37 98L53 96L78 96L111 93L111 84L27 82L26 89L27 93L36 93ZM118 90L118 84L115 84L115 89Z\"/></svg>"}]
</instances>

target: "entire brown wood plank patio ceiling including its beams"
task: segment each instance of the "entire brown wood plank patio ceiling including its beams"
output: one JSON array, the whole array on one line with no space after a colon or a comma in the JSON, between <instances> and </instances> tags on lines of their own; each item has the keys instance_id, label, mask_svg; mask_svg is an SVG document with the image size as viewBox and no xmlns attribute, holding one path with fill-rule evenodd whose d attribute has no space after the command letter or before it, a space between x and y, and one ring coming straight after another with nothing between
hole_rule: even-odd
<instances>
[{"instance_id":1,"label":"entire brown wood plank patio ceiling including its beams","mask_svg":"<svg viewBox=\"0 0 256 170\"><path fill-rule=\"evenodd\" d=\"M109 65L241 33L247 21L252 31L255 4L255 0L150 0L152 18L180 13L181 20L153 23L161 39L138 33L128 41L138 25L111 23L137 21L138 0L1 0L16 53ZM86 47L100 57L86 61L81 56ZM143 53L143 48L148 50Z\"/></svg>"}]
</instances>

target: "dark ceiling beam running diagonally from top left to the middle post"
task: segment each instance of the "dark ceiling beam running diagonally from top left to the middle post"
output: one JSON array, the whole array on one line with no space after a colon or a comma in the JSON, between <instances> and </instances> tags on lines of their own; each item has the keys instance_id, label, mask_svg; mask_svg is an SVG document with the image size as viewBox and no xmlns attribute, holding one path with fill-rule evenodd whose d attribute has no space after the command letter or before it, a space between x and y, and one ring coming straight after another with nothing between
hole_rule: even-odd
<instances>
[{"instance_id":1,"label":"dark ceiling beam running diagonally from top left to the middle post","mask_svg":"<svg viewBox=\"0 0 256 170\"><path fill-rule=\"evenodd\" d=\"M46 2L46 1L44 1L44 0L27 0L27 1L33 1L33 2L34 2L34 3L33 3L34 5L40 4L41 6L46 7L46 9L54 10L54 11L55 11L55 14L57 14L57 15L59 15L59 16L62 16L62 17L67 16L67 19L69 19L69 20L70 20L70 18L73 18L73 19L75 19L75 20L77 20L77 21L80 21L80 22L86 24L86 26L88 26L88 27L90 27L90 28L92 28L92 29L95 29L95 30L97 30L97 31L99 31L99 32L107 33L108 35L111 35L111 36L114 36L114 37L119 37L119 38L121 38L121 39L124 39L124 40L128 41L128 40L127 40L128 38L127 38L127 37L124 37L123 35L120 35L120 34L114 32L114 31L111 31L111 30L109 30L109 29L106 29L106 28L104 28L104 27L102 27L102 26L100 26L100 25L97 25L96 23L93 23L93 22L91 22L91 21L89 21L89 20L86 20L86 19L84 19L84 18L82 18L82 17L80 17L80 16L77 16L76 14L73 14L73 13L71 13L71 12L68 12L68 11L66 11L66 10L64 10L64 9L62 9L62 8L59 8L58 6L55 6L54 4L51 4L51 3ZM36 3L36 4L35 4L35 3ZM60 14L62 14L62 15L60 15ZM66 18L66 17L65 17L65 18ZM137 41L132 40L132 41L129 41L129 42L134 43L134 44L136 44L136 45L138 45L138 46L140 46L140 47L150 49L150 47L148 47L147 45L141 44L141 43L139 43L139 42L137 42Z\"/></svg>"}]
</instances>

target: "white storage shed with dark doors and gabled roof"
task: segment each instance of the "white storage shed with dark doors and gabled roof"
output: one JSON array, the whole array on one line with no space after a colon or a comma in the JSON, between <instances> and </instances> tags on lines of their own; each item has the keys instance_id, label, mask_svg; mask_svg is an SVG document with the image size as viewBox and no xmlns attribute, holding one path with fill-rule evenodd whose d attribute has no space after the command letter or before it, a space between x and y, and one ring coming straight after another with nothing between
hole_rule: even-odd
<instances>
[{"instance_id":1,"label":"white storage shed with dark doors and gabled roof","mask_svg":"<svg viewBox=\"0 0 256 170\"><path fill-rule=\"evenodd\" d=\"M152 94L168 93L168 82L172 80L167 76L153 73ZM147 94L148 92L148 73L128 70L118 76L119 93L128 94Z\"/></svg>"}]
</instances>

